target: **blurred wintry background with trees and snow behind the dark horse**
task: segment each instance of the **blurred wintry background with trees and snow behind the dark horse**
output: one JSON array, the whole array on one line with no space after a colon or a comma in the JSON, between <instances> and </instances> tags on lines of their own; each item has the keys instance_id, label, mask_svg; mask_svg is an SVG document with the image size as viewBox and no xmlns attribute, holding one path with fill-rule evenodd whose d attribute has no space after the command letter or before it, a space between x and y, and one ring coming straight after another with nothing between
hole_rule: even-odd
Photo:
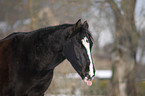
<instances>
[{"instance_id":1,"label":"blurred wintry background with trees and snow behind the dark horse","mask_svg":"<svg viewBox=\"0 0 145 96\"><path fill-rule=\"evenodd\" d=\"M145 96L144 0L0 0L0 39L78 19L89 23L96 68L88 87L65 60L45 96Z\"/></svg>"}]
</instances>

